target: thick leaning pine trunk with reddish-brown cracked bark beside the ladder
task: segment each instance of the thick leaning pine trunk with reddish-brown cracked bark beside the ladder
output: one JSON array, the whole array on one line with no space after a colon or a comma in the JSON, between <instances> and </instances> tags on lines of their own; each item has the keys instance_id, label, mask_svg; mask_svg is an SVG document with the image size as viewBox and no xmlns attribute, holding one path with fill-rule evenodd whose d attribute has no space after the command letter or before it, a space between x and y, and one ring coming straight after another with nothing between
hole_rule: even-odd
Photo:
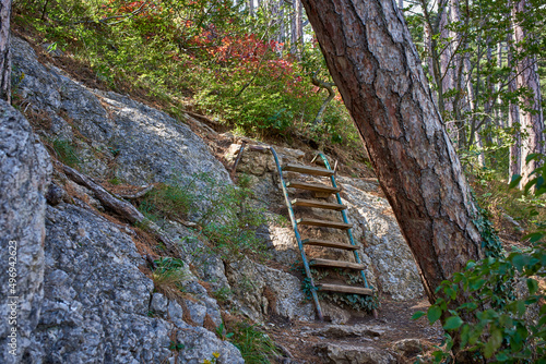
<instances>
[{"instance_id":1,"label":"thick leaning pine trunk with reddish-brown cracked bark beside the ladder","mask_svg":"<svg viewBox=\"0 0 546 364\"><path fill-rule=\"evenodd\" d=\"M381 189L435 290L484 257L459 158L394 0L304 0Z\"/></svg>"}]
</instances>

